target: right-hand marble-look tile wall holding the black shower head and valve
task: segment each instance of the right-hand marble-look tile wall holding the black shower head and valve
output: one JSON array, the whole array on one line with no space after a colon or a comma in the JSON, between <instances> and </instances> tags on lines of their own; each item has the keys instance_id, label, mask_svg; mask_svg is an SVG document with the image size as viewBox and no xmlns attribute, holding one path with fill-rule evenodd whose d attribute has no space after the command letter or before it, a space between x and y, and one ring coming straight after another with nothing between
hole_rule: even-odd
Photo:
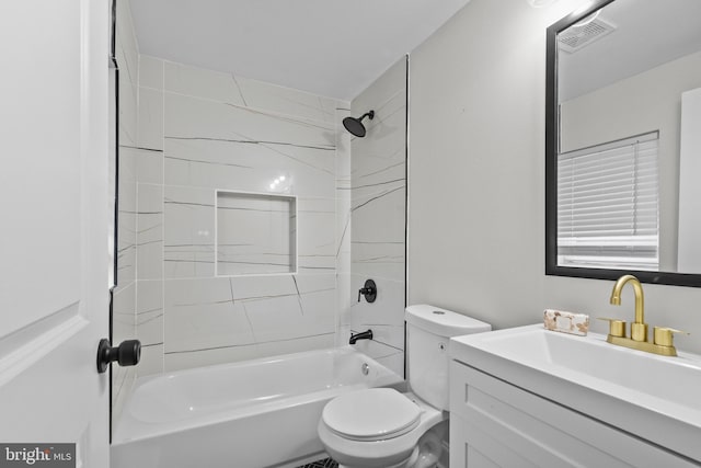
<instances>
[{"instance_id":1,"label":"right-hand marble-look tile wall holding the black shower head and valve","mask_svg":"<svg viewBox=\"0 0 701 468\"><path fill-rule=\"evenodd\" d=\"M375 110L367 135L352 137L350 294L342 304L340 339L371 329L356 346L404 375L406 59L402 58L352 103L352 114ZM365 281L377 300L357 301Z\"/></svg>"}]
</instances>

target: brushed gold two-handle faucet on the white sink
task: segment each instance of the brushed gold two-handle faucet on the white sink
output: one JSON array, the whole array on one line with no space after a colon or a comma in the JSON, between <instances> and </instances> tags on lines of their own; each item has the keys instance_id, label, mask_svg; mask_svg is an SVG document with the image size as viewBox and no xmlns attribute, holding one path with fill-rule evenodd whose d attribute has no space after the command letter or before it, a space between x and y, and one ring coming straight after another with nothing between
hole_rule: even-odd
<instances>
[{"instance_id":1,"label":"brushed gold two-handle faucet on the white sink","mask_svg":"<svg viewBox=\"0 0 701 468\"><path fill-rule=\"evenodd\" d=\"M623 275L613 285L611 292L611 305L621 305L621 290L625 284L633 286L635 294L635 321L631 323L631 336L625 333L625 321L616 319L604 319L609 321L609 335L606 338L611 344L625 346L633 350L646 351L648 353L660 354L663 356L676 356L677 350L674 346L673 333L683 333L679 330L655 327L654 341L647 341L647 323L645 323L645 298L643 286L633 275Z\"/></svg>"}]
</instances>

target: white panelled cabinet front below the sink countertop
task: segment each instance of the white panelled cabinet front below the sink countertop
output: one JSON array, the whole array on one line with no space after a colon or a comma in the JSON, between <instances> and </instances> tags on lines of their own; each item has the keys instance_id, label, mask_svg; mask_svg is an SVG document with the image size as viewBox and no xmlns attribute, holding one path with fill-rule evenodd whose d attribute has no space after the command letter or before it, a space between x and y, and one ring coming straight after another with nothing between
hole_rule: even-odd
<instances>
[{"instance_id":1,"label":"white panelled cabinet front below the sink countertop","mask_svg":"<svg viewBox=\"0 0 701 468\"><path fill-rule=\"evenodd\" d=\"M698 466L472 367L450 366L452 468Z\"/></svg>"}]
</instances>

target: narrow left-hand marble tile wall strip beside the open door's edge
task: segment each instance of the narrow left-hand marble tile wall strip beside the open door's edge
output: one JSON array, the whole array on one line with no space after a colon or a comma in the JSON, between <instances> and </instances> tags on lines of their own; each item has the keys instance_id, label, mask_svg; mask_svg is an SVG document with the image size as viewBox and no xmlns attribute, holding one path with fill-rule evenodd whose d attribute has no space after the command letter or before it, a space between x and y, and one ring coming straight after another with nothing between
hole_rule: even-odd
<instances>
[{"instance_id":1,"label":"narrow left-hand marble tile wall strip beside the open door's edge","mask_svg":"<svg viewBox=\"0 0 701 468\"><path fill-rule=\"evenodd\" d=\"M137 80L139 49L128 1L117 1L115 56L119 73L119 184L117 277L113 301L113 342L136 336ZM112 414L116 422L136 376L135 367L112 366Z\"/></svg>"}]
</instances>

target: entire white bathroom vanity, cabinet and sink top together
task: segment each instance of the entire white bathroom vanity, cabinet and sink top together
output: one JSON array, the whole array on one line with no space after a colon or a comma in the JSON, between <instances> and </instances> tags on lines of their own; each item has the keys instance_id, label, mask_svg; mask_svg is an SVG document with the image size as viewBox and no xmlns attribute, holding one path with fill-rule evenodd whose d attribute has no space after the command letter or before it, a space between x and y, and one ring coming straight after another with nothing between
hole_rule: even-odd
<instances>
[{"instance_id":1,"label":"entire white bathroom vanity, cabinet and sink top together","mask_svg":"<svg viewBox=\"0 0 701 468\"><path fill-rule=\"evenodd\" d=\"M701 355L541 324L450 339L450 466L701 467Z\"/></svg>"}]
</instances>

